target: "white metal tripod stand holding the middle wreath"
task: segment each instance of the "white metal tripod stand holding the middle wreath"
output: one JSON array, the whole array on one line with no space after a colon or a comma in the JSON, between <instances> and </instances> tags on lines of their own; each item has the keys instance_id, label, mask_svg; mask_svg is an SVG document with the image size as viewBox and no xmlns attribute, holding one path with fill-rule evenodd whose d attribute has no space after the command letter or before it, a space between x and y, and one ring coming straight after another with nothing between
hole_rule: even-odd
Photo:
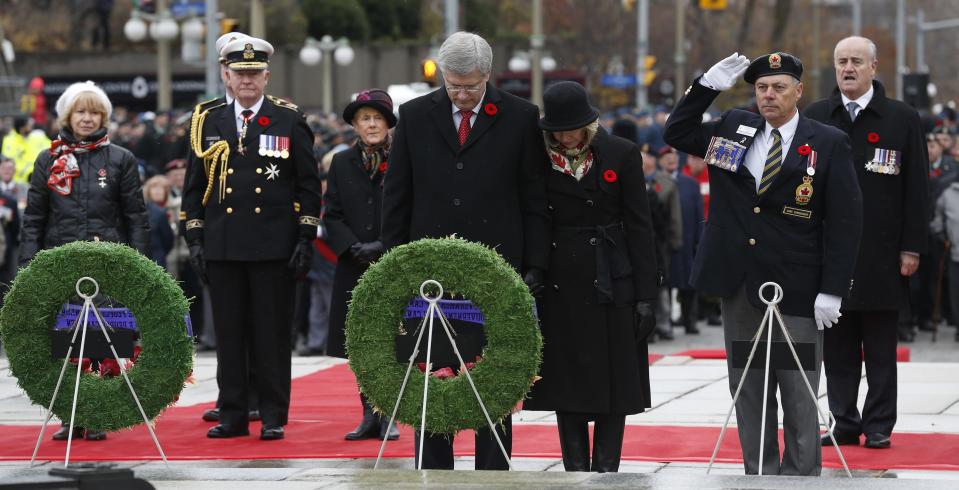
<instances>
[{"instance_id":1,"label":"white metal tripod stand holding the middle wreath","mask_svg":"<svg viewBox=\"0 0 959 490\"><path fill-rule=\"evenodd\" d=\"M426 292L426 287L432 286L436 289L436 296L430 296ZM413 370L413 363L416 360L416 355L420 352L420 345L423 341L423 332L429 331L426 338L426 369L423 372L423 411L420 418L420 447L419 447L419 458L416 465L417 470L423 469L423 442L426 440L426 405L428 402L429 394L429 381L430 381L430 371L432 365L430 364L430 354L433 350L433 318L439 318L440 324L443 326L443 331L446 332L446 337L450 340L450 345L453 346L453 352L456 353L456 359L460 362L460 371L466 375L467 381L470 383L470 387L473 388L473 394L476 395L476 402L479 403L480 409L483 410L483 416L486 417L486 423L489 424L490 432L493 433L493 437L496 438L496 443L499 445L500 451L503 452L503 457L506 458L506 464L509 465L509 469L513 469L513 461L510 460L509 454L506 453L506 447L503 446L503 441L500 439L499 434L496 432L496 427L493 424L493 420L489 416L489 412L486 410L486 405L483 403L483 398L480 397L479 390L476 389L476 384L473 382L473 377L470 376L469 369L466 367L466 363L463 362L463 356L460 355L459 347L456 346L456 341L453 340L453 327L450 326L449 320L446 319L446 315L443 314L443 310L439 307L439 300L443 297L443 286L432 279L427 279L423 281L423 284L420 284L420 297L426 300L429 306L426 308L426 316L423 318L423 322L420 323L419 331L420 333L416 336L416 345L413 347L413 353L410 355L410 362L406 365L406 375L403 377L403 383L400 385L400 394L396 397L396 403L393 404L393 414L390 415L390 425L393 425L393 422L396 420L396 413L400 409L400 401L403 399L403 392L406 391L407 381L410 379L410 373ZM424 328L425 327L425 328ZM377 469L380 465L380 460L383 459L383 450L386 449L386 441L389 437L389 434L383 436L383 442L380 444L380 452L376 455L376 463L373 464L373 469Z\"/></svg>"}]
</instances>

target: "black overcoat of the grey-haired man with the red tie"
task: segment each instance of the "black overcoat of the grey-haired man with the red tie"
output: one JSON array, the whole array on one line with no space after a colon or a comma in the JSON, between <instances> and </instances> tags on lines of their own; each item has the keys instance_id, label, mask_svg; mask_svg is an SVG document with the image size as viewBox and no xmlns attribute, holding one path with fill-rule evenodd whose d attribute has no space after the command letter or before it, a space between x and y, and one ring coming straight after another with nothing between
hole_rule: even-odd
<instances>
[{"instance_id":1,"label":"black overcoat of the grey-haired man with the red tie","mask_svg":"<svg viewBox=\"0 0 959 490\"><path fill-rule=\"evenodd\" d=\"M461 146L445 89L400 106L383 191L383 243L456 234L494 247L520 273L545 269L539 109L487 83L478 112Z\"/></svg>"}]
</instances>

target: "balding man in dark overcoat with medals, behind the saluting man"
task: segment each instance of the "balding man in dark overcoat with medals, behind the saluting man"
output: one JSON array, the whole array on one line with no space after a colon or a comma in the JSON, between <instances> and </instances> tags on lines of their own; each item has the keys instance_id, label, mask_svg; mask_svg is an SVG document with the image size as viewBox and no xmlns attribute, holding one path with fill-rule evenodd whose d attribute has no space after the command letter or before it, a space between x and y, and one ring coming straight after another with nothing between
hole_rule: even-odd
<instances>
[{"instance_id":1,"label":"balding man in dark overcoat with medals, behind the saluting man","mask_svg":"<svg viewBox=\"0 0 959 490\"><path fill-rule=\"evenodd\" d=\"M896 425L898 309L907 298L906 278L926 251L926 145L916 110L887 98L873 79L879 60L872 41L843 39L833 58L838 89L806 108L806 116L849 135L862 190L863 235L839 328L825 336L829 409L836 417L837 444L858 445L865 434L866 447L887 448ZM863 361L869 391L860 416Z\"/></svg>"}]
</instances>

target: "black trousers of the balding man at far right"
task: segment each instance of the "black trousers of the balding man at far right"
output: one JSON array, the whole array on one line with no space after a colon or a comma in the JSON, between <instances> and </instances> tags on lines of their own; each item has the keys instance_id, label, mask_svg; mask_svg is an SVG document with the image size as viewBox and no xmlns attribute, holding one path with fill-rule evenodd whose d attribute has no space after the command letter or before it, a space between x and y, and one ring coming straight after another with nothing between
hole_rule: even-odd
<instances>
[{"instance_id":1,"label":"black trousers of the balding man at far right","mask_svg":"<svg viewBox=\"0 0 959 490\"><path fill-rule=\"evenodd\" d=\"M823 345L829 410L843 434L890 435L896 425L896 326L899 313L843 311L827 328ZM856 407L862 363L869 391L862 415Z\"/></svg>"}]
</instances>

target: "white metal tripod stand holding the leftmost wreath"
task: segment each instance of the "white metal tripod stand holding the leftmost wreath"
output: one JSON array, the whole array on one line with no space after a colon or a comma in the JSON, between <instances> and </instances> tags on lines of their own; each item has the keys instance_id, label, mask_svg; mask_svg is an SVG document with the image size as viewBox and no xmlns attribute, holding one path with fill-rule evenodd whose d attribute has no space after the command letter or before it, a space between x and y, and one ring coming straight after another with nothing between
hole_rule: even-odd
<instances>
[{"instance_id":1,"label":"white metal tripod stand holding the leftmost wreath","mask_svg":"<svg viewBox=\"0 0 959 490\"><path fill-rule=\"evenodd\" d=\"M87 295L80 290L80 285L84 282L90 282L93 284L93 294ZM73 343L77 340L77 334L80 334L80 352L77 354L77 358L80 362L77 363L77 379L73 385L73 405L70 408L70 433L67 435L67 452L63 460L63 467L66 468L70 466L70 449L73 446L73 426L74 419L77 414L77 396L80 394L80 375L83 373L83 349L87 341L87 325L89 324L89 313L93 311L93 314L97 317L97 322L100 327L100 331L103 332L103 336L107 340L107 345L110 346L110 351L113 352L113 359L116 360L117 365L120 366L120 374L123 375L123 380L126 381L127 387L130 388L130 394L133 395L133 401L136 402L137 408L140 409L140 415L143 417L143 424L146 425L147 430L150 431L150 437L153 438L153 443L157 447L157 451L160 453L160 457L163 458L163 463L168 465L166 454L163 453L163 448L160 447L160 441L156 437L156 433L153 432L153 427L150 425L150 420L147 419L147 414L143 410L143 405L140 404L140 398L137 396L136 390L133 389L133 385L130 383L130 378L127 376L126 368L123 366L123 363L120 362L120 356L117 355L117 350L113 346L113 341L110 339L110 334L107 333L107 328L113 330L107 322L103 319L103 316L100 315L100 310L93 304L93 298L97 296L100 292L100 285L97 284L97 281L92 277L81 277L77 280L76 285L77 294L83 298L83 307L80 308L80 316L77 317L76 323L73 325L73 337L70 339L70 347L67 348L67 355L63 358L63 366L60 367L60 377L57 379L57 385L53 388L53 398L50 399L50 405L47 407L47 415L43 420L43 425L40 426L40 435L37 437L37 445L33 448L33 456L30 458L30 466L33 467L34 462L37 459L37 453L40 451L40 443L43 442L43 434L47 430L47 424L50 423L50 418L53 417L53 404L57 401L57 395L60 393L60 385L63 383L63 375L67 371L67 363L70 362L71 354L73 353ZM82 324L81 324L82 320ZM104 328L106 326L107 328Z\"/></svg>"}]
</instances>

